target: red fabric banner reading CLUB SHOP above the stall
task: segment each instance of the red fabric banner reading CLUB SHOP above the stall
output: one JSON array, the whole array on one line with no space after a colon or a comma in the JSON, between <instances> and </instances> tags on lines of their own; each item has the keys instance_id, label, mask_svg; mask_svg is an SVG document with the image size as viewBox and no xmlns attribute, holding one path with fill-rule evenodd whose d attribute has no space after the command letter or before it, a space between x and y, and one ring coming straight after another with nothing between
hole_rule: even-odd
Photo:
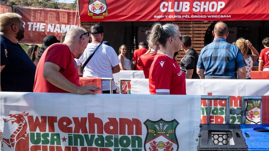
<instances>
[{"instance_id":1,"label":"red fabric banner reading CLUB SHOP above the stall","mask_svg":"<svg viewBox=\"0 0 269 151\"><path fill-rule=\"evenodd\" d=\"M80 21L269 20L261 0L79 0Z\"/></svg>"}]
</instances>

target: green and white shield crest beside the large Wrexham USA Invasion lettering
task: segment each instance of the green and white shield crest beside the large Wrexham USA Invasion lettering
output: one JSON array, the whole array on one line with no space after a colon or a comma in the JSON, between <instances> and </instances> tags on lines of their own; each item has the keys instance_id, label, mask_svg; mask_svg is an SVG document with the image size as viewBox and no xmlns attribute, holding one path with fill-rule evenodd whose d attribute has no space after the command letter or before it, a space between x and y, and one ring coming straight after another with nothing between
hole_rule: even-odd
<instances>
[{"instance_id":1,"label":"green and white shield crest beside the large Wrexham USA Invasion lettering","mask_svg":"<svg viewBox=\"0 0 269 151\"><path fill-rule=\"evenodd\" d=\"M147 135L144 141L145 151L178 151L178 139L176 138L176 119L158 121L147 119L144 125L147 127Z\"/></svg>"}]
</instances>

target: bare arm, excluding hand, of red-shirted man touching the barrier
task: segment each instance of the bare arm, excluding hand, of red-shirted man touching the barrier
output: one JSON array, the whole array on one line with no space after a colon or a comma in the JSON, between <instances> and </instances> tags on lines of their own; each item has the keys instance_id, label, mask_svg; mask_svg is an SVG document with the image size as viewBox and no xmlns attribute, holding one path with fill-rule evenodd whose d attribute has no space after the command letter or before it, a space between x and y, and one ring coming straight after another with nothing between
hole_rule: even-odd
<instances>
[{"instance_id":1,"label":"bare arm, excluding hand, of red-shirted man touching the barrier","mask_svg":"<svg viewBox=\"0 0 269 151\"><path fill-rule=\"evenodd\" d=\"M43 77L56 87L71 93L77 93L78 86L68 81L59 71L49 70Z\"/></svg>"}]
</instances>

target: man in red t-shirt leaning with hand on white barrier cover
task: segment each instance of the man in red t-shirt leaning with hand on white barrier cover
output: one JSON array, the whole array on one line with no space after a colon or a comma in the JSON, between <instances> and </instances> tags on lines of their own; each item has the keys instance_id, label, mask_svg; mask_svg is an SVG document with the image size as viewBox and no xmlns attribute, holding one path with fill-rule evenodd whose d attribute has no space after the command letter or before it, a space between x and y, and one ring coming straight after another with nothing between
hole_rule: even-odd
<instances>
[{"instance_id":1,"label":"man in red t-shirt leaning with hand on white barrier cover","mask_svg":"<svg viewBox=\"0 0 269 151\"><path fill-rule=\"evenodd\" d=\"M79 37L80 36L80 37ZM77 64L89 42L89 32L82 27L71 28L63 43L49 46L41 56L34 80L34 92L94 94L94 85L80 87Z\"/></svg>"}]
</instances>

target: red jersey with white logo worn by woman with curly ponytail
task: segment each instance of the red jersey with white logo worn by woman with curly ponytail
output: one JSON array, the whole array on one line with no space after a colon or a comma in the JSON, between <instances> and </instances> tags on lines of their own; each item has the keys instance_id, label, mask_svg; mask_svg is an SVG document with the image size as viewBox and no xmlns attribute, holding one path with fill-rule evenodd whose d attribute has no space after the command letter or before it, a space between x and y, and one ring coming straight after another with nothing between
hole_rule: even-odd
<instances>
[{"instance_id":1,"label":"red jersey with white logo worn by woman with curly ponytail","mask_svg":"<svg viewBox=\"0 0 269 151\"><path fill-rule=\"evenodd\" d=\"M149 89L150 94L186 95L185 74L172 56L157 53L150 67Z\"/></svg>"}]
</instances>

